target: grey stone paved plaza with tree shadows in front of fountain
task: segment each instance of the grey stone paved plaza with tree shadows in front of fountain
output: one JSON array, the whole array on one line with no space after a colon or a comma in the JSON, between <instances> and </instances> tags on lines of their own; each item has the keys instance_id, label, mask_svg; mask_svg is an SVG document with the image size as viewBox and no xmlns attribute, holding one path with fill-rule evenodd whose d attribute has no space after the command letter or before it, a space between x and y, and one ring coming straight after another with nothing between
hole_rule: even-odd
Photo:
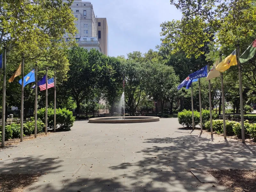
<instances>
[{"instance_id":1,"label":"grey stone paved plaza with tree shadows in front of fountain","mask_svg":"<svg viewBox=\"0 0 256 192\"><path fill-rule=\"evenodd\" d=\"M255 151L238 140L183 129L177 118L136 124L76 121L69 132L0 150L0 173L42 174L25 191L219 192L229 190L211 183L214 178L204 171L256 169Z\"/></svg>"}]
</instances>

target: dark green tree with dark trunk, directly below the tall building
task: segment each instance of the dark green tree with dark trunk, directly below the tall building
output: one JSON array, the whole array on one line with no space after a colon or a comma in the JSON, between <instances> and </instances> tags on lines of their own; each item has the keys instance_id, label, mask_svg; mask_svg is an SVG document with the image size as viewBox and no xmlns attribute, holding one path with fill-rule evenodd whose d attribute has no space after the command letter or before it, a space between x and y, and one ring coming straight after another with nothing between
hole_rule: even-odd
<instances>
[{"instance_id":1,"label":"dark green tree with dark trunk, directly below the tall building","mask_svg":"<svg viewBox=\"0 0 256 192\"><path fill-rule=\"evenodd\" d=\"M101 66L106 65L106 56L91 49L89 52L80 47L73 47L68 52L70 62L68 80L63 83L67 92L76 101L79 114L80 103L92 100L100 87Z\"/></svg>"}]
</instances>

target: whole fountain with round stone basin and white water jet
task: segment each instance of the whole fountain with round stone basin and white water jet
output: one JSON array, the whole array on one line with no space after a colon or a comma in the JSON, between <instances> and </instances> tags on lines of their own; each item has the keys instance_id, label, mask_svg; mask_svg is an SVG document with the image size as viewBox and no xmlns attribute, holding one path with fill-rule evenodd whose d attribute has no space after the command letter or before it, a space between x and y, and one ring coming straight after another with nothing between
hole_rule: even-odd
<instances>
[{"instance_id":1,"label":"whole fountain with round stone basin and white water jet","mask_svg":"<svg viewBox=\"0 0 256 192\"><path fill-rule=\"evenodd\" d=\"M124 110L125 102L124 102L124 92L121 96L121 100L119 102L120 113ZM159 121L159 117L151 117L151 116L126 116L124 111L124 118L120 117L96 117L89 119L89 123L146 123L146 122L155 122Z\"/></svg>"}]
</instances>

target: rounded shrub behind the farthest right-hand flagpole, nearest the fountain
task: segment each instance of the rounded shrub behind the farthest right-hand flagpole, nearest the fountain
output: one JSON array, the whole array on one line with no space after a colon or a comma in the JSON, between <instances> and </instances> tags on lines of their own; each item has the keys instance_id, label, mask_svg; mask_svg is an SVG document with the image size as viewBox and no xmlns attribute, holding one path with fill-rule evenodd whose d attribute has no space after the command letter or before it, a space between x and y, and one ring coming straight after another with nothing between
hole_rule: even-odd
<instances>
[{"instance_id":1,"label":"rounded shrub behind the farthest right-hand flagpole, nearest the fountain","mask_svg":"<svg viewBox=\"0 0 256 192\"><path fill-rule=\"evenodd\" d=\"M192 127L192 111L183 110L178 113L179 124L186 127ZM198 111L194 111L194 124L195 126L200 123L200 114Z\"/></svg>"}]
</instances>

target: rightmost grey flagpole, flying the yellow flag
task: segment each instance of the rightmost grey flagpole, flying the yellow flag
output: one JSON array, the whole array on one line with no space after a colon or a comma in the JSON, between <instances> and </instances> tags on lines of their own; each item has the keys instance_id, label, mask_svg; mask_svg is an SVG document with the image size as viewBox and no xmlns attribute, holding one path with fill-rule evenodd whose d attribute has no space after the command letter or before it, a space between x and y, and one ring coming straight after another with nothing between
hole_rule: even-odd
<instances>
[{"instance_id":1,"label":"rightmost grey flagpole, flying the yellow flag","mask_svg":"<svg viewBox=\"0 0 256 192\"><path fill-rule=\"evenodd\" d=\"M242 142L245 143L245 138L244 138L244 103L243 103L243 88L242 88L241 64L240 64L240 61L239 61L239 57L240 57L239 40L237 41L237 56L238 56L238 74L239 74L239 94L240 94L240 113L241 113Z\"/></svg>"}]
</instances>

